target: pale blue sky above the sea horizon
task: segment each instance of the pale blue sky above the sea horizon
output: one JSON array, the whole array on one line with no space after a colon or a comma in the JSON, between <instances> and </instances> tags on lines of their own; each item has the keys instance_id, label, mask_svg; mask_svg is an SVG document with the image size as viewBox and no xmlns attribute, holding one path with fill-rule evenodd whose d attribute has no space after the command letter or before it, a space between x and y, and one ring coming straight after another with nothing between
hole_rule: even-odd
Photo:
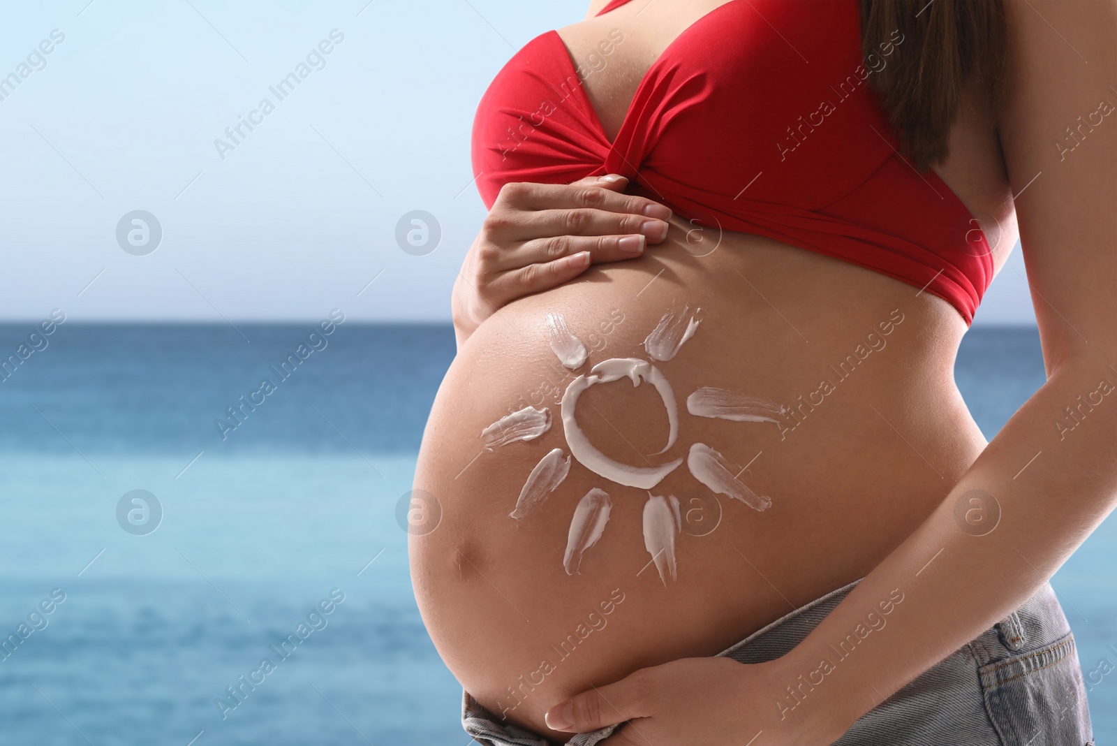
<instances>
[{"instance_id":1,"label":"pale blue sky above the sea horizon","mask_svg":"<svg viewBox=\"0 0 1117 746\"><path fill-rule=\"evenodd\" d=\"M31 63L0 89L0 319L57 307L76 321L294 321L340 307L448 321L485 214L470 185L477 102L514 48L584 12L584 0L8 4L0 77ZM300 64L280 101L269 86ZM233 146L219 153L217 138ZM145 256L117 239L137 210L162 229ZM441 228L426 256L395 238L414 210ZM125 223L122 236L143 229ZM1033 323L1014 254L978 324Z\"/></svg>"}]
</instances>

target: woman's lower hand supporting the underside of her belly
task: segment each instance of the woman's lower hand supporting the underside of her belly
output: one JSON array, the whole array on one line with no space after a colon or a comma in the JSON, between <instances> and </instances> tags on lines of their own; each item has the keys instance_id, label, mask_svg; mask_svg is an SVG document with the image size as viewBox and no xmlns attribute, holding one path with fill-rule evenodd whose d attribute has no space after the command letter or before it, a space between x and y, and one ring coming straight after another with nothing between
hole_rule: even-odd
<instances>
[{"instance_id":1,"label":"woman's lower hand supporting the underside of her belly","mask_svg":"<svg viewBox=\"0 0 1117 746\"><path fill-rule=\"evenodd\" d=\"M586 733L628 721L599 746L823 746L849 724L805 698L783 707L798 685L780 659L684 658L582 692L546 714L553 730Z\"/></svg>"}]
</instances>

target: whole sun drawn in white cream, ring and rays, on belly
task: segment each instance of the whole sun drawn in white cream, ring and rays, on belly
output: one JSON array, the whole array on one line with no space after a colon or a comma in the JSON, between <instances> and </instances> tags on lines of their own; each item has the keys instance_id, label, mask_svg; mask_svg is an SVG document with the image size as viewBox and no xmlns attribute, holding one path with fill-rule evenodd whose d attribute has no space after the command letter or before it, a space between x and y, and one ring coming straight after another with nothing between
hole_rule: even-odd
<instances>
[{"instance_id":1,"label":"whole sun drawn in white cream, ring and rays, on belly","mask_svg":"<svg viewBox=\"0 0 1117 746\"><path fill-rule=\"evenodd\" d=\"M561 314L547 314L547 329L551 350L567 369L576 371L589 358L585 345L566 325ZM757 495L734 474L731 463L715 449L705 443L693 443L686 458L665 460L656 463L652 459L667 452L677 441L679 412L675 391L667 376L655 362L672 360L682 345L694 336L701 324L700 309L689 313L688 306L681 312L668 312L643 342L645 352L651 360L641 357L612 357L593 365L589 373L570 382L562 398L560 417L566 447L570 453L555 448L543 456L527 476L524 487L509 517L525 519L566 478L571 459L575 459L590 471L615 485L634 487L648 491L643 506L643 544L652 557L659 577L667 584L667 577L676 578L675 542L682 529L679 499L674 495L653 495L651 490L686 460L690 475L717 495L741 500L754 510L766 510L772 505L767 496ZM577 400L591 386L629 379L633 386L641 383L652 385L659 393L667 411L667 444L649 457L645 466L633 466L617 461L602 453L582 432L577 424L575 409ZM724 389L703 386L687 396L687 411L695 417L717 418L737 422L779 422L784 413L777 404ZM525 407L500 418L481 431L486 450L494 450L517 441L532 441L551 429L552 415L548 409ZM586 492L574 508L563 555L563 567L569 575L579 572L582 558L593 547L605 530L612 499L608 486L594 487Z\"/></svg>"}]
</instances>

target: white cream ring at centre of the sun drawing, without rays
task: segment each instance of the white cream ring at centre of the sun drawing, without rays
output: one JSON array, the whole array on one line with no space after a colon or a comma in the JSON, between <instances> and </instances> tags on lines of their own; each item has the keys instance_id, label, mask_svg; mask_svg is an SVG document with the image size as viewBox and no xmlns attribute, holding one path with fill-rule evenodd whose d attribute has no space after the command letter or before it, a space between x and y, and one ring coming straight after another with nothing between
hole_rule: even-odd
<instances>
[{"instance_id":1,"label":"white cream ring at centre of the sun drawing, without rays","mask_svg":"<svg viewBox=\"0 0 1117 746\"><path fill-rule=\"evenodd\" d=\"M574 410L577 407L577 399L582 395L583 391L596 383L608 383L626 376L632 381L633 386L640 385L641 381L647 381L659 392L660 398L663 400L663 407L667 408L667 418L670 427L667 446L659 452L662 453L675 444L679 432L679 412L671 384L659 372L659 369L647 361L636 357L614 357L598 363L591 369L590 375L580 375L566 386L566 392L562 398L562 424L566 436L566 446L579 463L590 471L615 481L619 485L651 489L663 477L677 469L682 463L682 459L668 461L658 467L633 467L614 461L590 442L590 439L582 432L575 419Z\"/></svg>"}]
</instances>

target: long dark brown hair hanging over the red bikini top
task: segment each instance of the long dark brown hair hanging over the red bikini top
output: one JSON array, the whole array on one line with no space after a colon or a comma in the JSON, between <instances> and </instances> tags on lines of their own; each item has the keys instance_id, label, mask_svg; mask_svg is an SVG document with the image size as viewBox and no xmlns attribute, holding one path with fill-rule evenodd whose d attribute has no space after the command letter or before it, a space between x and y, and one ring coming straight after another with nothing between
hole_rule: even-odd
<instances>
[{"instance_id":1,"label":"long dark brown hair hanging over the red bikini top","mask_svg":"<svg viewBox=\"0 0 1117 746\"><path fill-rule=\"evenodd\" d=\"M1002 0L861 0L861 39L866 57L894 45L870 85L919 171L949 153L951 125L971 82L992 106L1000 101L1008 54Z\"/></svg>"}]
</instances>

